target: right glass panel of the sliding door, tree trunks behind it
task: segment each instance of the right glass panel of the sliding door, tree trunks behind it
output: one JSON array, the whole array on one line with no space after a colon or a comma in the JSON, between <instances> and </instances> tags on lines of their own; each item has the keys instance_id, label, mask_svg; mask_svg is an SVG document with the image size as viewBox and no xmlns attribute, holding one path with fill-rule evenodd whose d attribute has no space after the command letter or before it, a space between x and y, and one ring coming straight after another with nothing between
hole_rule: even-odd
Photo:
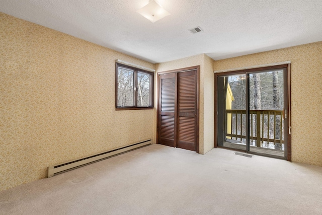
<instances>
[{"instance_id":1,"label":"right glass panel of the sliding door, tree trunks behind it","mask_svg":"<svg viewBox=\"0 0 322 215\"><path fill-rule=\"evenodd\" d=\"M249 74L250 152L284 157L284 70Z\"/></svg>"}]
</instances>

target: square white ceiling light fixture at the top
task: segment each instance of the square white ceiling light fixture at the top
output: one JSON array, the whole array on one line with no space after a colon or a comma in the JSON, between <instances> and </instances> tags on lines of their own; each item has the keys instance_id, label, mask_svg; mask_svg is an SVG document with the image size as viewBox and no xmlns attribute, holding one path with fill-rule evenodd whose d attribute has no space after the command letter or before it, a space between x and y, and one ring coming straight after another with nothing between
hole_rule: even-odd
<instances>
[{"instance_id":1,"label":"square white ceiling light fixture at the top","mask_svg":"<svg viewBox=\"0 0 322 215\"><path fill-rule=\"evenodd\" d=\"M170 15L168 11L163 9L154 0L150 1L149 4L137 10L136 12L141 14L143 17L150 20L151 22L156 22L159 19L162 19Z\"/></svg>"}]
</instances>

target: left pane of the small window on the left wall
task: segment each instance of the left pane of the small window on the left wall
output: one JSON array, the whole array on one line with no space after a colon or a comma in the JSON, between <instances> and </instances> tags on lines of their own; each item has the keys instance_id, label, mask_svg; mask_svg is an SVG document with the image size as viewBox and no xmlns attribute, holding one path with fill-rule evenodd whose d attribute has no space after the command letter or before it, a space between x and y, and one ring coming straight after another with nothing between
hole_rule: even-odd
<instances>
[{"instance_id":1,"label":"left pane of the small window on the left wall","mask_svg":"<svg viewBox=\"0 0 322 215\"><path fill-rule=\"evenodd\" d=\"M117 78L117 106L133 106L133 73L134 71L124 67L118 67Z\"/></svg>"}]
</instances>

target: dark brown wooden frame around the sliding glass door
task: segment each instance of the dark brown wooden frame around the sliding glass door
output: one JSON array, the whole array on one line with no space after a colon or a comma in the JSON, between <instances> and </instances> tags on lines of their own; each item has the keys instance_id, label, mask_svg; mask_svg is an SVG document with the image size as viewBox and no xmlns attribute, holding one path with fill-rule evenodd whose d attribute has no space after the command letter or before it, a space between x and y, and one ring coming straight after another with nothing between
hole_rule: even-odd
<instances>
[{"instance_id":1,"label":"dark brown wooden frame around the sliding glass door","mask_svg":"<svg viewBox=\"0 0 322 215\"><path fill-rule=\"evenodd\" d=\"M225 147L220 147L217 144L217 121L218 121L218 117L217 117L217 102L218 102L218 95L217 95L217 88L218 88L218 77L219 76L229 76L229 75L238 75L238 74L251 74L251 73L256 73L256 72L261 72L261 71L265 71L265 70L270 70L270 69L278 69L278 68L284 68L285 71L284 73L284 96L286 96L286 99L284 99L284 103L286 103L286 111L287 111L287 118L284 121L284 127L288 128L285 129L284 128L284 136L286 135L286 160L287 161L291 161L292 156L291 156L291 65L290 64L280 64L280 65L272 65L272 66L264 66L264 67L257 67L257 68L249 68L249 69L236 69L236 70L232 70L232 71L225 71L225 72L220 72L220 73L215 73L215 77L214 77L214 147L215 148L225 148ZM247 80L247 82L249 82L249 79ZM225 148L225 149L229 149L229 148ZM234 149L235 151L238 151L236 149ZM245 152L244 150L240 150L241 152ZM254 153L254 152L250 152L249 149L246 150L246 153L250 153L250 154L255 154L255 155L262 155L259 153ZM265 155L266 156L266 155ZM281 157L275 157L275 156L268 156L268 157L274 157L274 158L281 158Z\"/></svg>"}]
</instances>

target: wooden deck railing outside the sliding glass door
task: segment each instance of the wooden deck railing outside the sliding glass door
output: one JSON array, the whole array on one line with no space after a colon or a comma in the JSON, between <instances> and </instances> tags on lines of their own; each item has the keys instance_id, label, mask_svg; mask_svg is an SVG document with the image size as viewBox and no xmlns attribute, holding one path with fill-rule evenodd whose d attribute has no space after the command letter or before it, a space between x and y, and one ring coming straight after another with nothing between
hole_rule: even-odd
<instances>
[{"instance_id":1,"label":"wooden deck railing outside the sliding glass door","mask_svg":"<svg viewBox=\"0 0 322 215\"><path fill-rule=\"evenodd\" d=\"M256 141L257 147L263 147L264 142L274 147L278 144L275 148L281 149L284 144L282 116L282 110L250 110L250 141ZM246 140L246 110L226 110L226 117L226 137Z\"/></svg>"}]
</instances>

